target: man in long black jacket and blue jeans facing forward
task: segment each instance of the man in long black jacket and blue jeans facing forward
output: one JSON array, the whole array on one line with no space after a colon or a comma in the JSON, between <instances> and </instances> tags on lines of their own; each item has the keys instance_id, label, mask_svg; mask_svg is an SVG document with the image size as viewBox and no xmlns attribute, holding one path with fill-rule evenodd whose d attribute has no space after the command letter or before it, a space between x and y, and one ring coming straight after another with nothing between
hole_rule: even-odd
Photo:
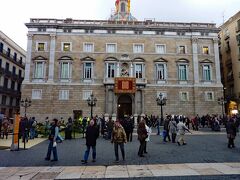
<instances>
[{"instance_id":1,"label":"man in long black jacket and blue jeans facing forward","mask_svg":"<svg viewBox=\"0 0 240 180\"><path fill-rule=\"evenodd\" d=\"M92 162L96 162L96 144L97 144L98 136L99 136L99 130L95 126L94 121L91 120L90 124L89 124L89 126L87 127L87 130L86 130L87 150L84 153L84 159L82 160L82 164L87 163L91 147L92 147Z\"/></svg>"}]
</instances>

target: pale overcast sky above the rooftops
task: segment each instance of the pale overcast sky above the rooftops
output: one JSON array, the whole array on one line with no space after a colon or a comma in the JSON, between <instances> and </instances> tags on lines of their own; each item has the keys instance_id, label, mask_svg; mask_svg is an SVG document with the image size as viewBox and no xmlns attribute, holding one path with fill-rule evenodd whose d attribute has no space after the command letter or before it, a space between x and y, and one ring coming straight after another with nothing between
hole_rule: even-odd
<instances>
[{"instance_id":1,"label":"pale overcast sky above the rooftops","mask_svg":"<svg viewBox=\"0 0 240 180\"><path fill-rule=\"evenodd\" d=\"M23 49L30 18L106 20L115 0L2 0L0 30ZM218 26L240 10L240 0L131 0L138 20L210 22ZM224 18L223 18L224 16Z\"/></svg>"}]
</instances>

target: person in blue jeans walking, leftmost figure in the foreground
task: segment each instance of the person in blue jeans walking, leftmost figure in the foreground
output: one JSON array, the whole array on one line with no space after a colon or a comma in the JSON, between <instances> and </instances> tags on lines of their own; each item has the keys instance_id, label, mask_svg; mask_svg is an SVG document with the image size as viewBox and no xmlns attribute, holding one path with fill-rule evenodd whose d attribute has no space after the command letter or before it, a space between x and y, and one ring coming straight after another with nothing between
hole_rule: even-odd
<instances>
[{"instance_id":1,"label":"person in blue jeans walking, leftmost figure in the foreground","mask_svg":"<svg viewBox=\"0 0 240 180\"><path fill-rule=\"evenodd\" d=\"M59 133L58 120L53 119L53 124L50 128L50 134L49 134L49 138L48 138L49 145L48 145L47 156L45 158L46 161L50 160L52 152L53 152L53 160L51 160L51 161L58 161L57 142L56 142L58 133Z\"/></svg>"}]
</instances>

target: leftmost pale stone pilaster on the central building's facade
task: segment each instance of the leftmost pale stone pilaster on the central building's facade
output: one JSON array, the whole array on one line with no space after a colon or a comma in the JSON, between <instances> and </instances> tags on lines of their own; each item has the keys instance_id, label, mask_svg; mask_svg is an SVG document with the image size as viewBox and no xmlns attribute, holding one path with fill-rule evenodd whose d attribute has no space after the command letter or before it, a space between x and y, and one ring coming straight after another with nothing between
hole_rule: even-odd
<instances>
[{"instance_id":1,"label":"leftmost pale stone pilaster on the central building's facade","mask_svg":"<svg viewBox=\"0 0 240 180\"><path fill-rule=\"evenodd\" d=\"M28 42L27 42L27 56L26 56L26 65L25 65L25 77L24 82L30 81L30 67L31 67L31 60L32 60L32 34L28 34Z\"/></svg>"}]
</instances>

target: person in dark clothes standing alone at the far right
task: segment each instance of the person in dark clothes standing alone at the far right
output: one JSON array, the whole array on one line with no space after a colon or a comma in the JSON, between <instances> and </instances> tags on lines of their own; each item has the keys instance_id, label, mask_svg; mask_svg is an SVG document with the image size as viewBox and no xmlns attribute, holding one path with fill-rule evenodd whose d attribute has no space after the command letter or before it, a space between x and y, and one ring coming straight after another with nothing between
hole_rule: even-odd
<instances>
[{"instance_id":1,"label":"person in dark clothes standing alone at the far right","mask_svg":"<svg viewBox=\"0 0 240 180\"><path fill-rule=\"evenodd\" d=\"M235 148L234 139L237 135L237 126L233 118L230 118L226 125L228 148Z\"/></svg>"}]
</instances>

